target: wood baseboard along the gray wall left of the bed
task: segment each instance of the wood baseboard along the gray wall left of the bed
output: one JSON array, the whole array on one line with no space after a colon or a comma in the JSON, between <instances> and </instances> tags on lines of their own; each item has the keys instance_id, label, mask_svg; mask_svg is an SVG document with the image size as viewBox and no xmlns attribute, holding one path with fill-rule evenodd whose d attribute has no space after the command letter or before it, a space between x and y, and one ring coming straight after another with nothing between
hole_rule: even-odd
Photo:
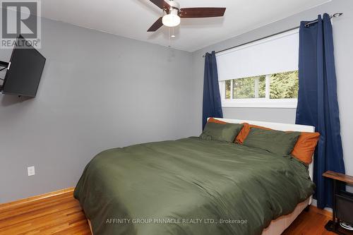
<instances>
[{"instance_id":1,"label":"wood baseboard along the gray wall left of the bed","mask_svg":"<svg viewBox=\"0 0 353 235\"><path fill-rule=\"evenodd\" d=\"M66 193L73 193L73 190L75 189L75 187L71 187L71 188L64 188L58 191L54 191L54 192L50 192L50 193L44 193L41 195L35 195L32 196L30 198L23 198L20 200L14 200L13 202L9 202L9 203L1 203L0 204L0 210L6 210L9 209L11 207L16 207L19 205L23 205L23 204L27 204L27 203L34 203L35 201L38 200L43 200L45 198L51 198L57 195L62 195L62 194L66 194Z\"/></svg>"}]
</instances>

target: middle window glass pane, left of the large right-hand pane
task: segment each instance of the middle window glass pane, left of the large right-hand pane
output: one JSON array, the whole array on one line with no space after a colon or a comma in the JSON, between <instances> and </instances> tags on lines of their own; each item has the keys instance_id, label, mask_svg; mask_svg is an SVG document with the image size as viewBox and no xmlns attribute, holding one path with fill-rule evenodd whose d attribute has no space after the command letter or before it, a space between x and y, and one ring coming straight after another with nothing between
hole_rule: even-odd
<instances>
[{"instance_id":1,"label":"middle window glass pane, left of the large right-hand pane","mask_svg":"<svg viewBox=\"0 0 353 235\"><path fill-rule=\"evenodd\" d=\"M239 78L233 80L234 99L265 97L265 76Z\"/></svg>"}]
</instances>

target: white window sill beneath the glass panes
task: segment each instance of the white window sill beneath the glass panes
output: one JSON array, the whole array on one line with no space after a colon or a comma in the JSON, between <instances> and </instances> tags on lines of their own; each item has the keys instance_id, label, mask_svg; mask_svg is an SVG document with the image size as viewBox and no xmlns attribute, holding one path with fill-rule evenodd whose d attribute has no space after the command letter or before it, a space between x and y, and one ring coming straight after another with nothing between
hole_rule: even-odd
<instances>
[{"instance_id":1,"label":"white window sill beneath the glass panes","mask_svg":"<svg viewBox=\"0 0 353 235\"><path fill-rule=\"evenodd\" d=\"M222 100L222 107L225 108L277 108L297 109L297 99L238 99Z\"/></svg>"}]
</instances>

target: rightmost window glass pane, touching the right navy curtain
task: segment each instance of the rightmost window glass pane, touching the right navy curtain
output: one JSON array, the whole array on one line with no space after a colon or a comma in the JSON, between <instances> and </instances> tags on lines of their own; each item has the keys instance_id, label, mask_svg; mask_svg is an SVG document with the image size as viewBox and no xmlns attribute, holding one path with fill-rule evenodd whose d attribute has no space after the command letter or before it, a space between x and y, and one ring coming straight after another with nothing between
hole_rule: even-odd
<instances>
[{"instance_id":1,"label":"rightmost window glass pane, touching the right navy curtain","mask_svg":"<svg viewBox=\"0 0 353 235\"><path fill-rule=\"evenodd\" d=\"M298 71L275 73L270 77L270 99L297 99Z\"/></svg>"}]
</instances>

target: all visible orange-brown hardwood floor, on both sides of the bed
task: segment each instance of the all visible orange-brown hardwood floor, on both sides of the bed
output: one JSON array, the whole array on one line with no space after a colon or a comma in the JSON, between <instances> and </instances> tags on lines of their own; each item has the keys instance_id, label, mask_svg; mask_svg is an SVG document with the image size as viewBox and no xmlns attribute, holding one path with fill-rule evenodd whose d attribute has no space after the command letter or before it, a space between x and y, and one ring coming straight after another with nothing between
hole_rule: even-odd
<instances>
[{"instance_id":1,"label":"all visible orange-brown hardwood floor, on both sides of the bed","mask_svg":"<svg viewBox=\"0 0 353 235\"><path fill-rule=\"evenodd\" d=\"M329 212L311 207L309 212L302 212L283 234L331 235L333 233L324 228L329 216ZM90 227L71 188L58 195L32 198L30 202L22 200L0 205L0 234L90 234ZM346 231L346 234L353 233Z\"/></svg>"}]
</instances>

